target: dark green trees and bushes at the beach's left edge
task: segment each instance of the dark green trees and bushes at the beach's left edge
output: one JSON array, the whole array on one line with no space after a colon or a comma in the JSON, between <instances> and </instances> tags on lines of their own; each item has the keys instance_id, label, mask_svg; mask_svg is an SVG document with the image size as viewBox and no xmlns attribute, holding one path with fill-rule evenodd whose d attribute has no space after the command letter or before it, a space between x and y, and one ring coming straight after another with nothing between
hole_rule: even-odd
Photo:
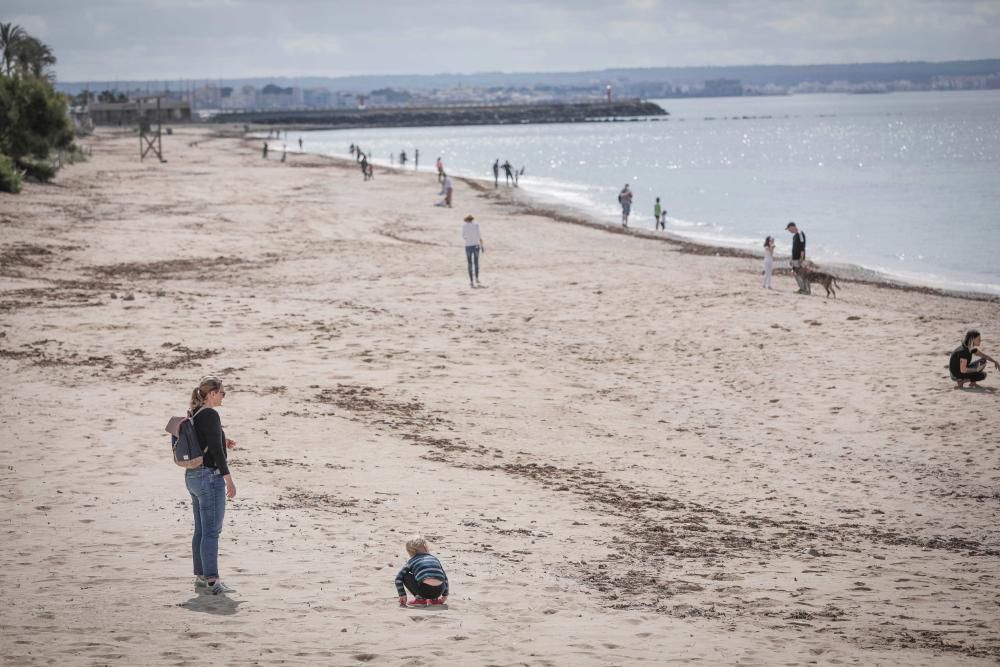
<instances>
[{"instance_id":1,"label":"dark green trees and bushes at the beach's left edge","mask_svg":"<svg viewBox=\"0 0 1000 667\"><path fill-rule=\"evenodd\" d=\"M52 50L20 26L0 23L0 191L21 178L48 181L78 160L66 97L52 87Z\"/></svg>"}]
</instances>

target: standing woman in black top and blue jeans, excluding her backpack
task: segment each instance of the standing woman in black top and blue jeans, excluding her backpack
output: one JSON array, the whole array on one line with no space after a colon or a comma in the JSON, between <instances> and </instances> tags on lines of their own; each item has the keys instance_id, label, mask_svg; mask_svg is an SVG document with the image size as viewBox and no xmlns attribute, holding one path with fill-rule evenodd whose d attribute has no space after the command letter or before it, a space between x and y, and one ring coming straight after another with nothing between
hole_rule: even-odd
<instances>
[{"instance_id":1,"label":"standing woman in black top and blue jeans, excluding her backpack","mask_svg":"<svg viewBox=\"0 0 1000 667\"><path fill-rule=\"evenodd\" d=\"M219 578L219 534L226 515L226 498L236 497L236 484L229 472L226 454L226 450L235 447L236 443L226 438L216 411L225 397L222 380L214 376L202 378L191 392L188 416L194 422L198 444L205 454L200 468L184 472L194 510L191 558L195 587L205 587L214 595L233 591Z\"/></svg>"}]
</instances>

